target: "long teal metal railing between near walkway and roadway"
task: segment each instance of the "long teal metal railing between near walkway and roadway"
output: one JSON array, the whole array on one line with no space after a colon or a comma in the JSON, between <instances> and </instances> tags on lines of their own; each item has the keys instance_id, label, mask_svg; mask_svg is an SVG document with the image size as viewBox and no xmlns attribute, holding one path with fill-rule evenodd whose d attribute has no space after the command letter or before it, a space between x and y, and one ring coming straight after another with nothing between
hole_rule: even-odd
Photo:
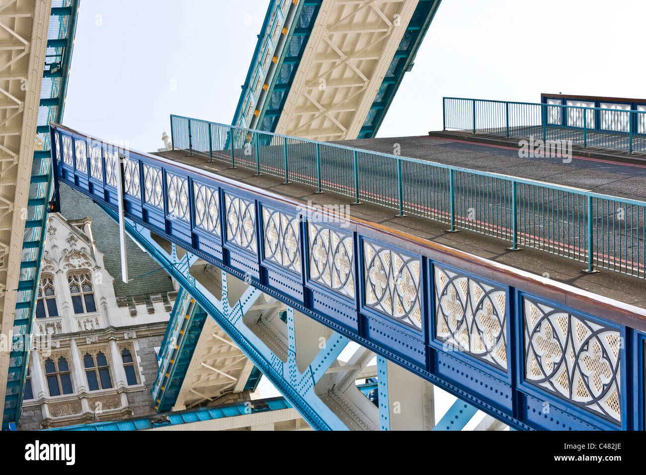
<instances>
[{"instance_id":1,"label":"long teal metal railing between near walkway and roadway","mask_svg":"<svg viewBox=\"0 0 646 475\"><path fill-rule=\"evenodd\" d=\"M548 251L590 272L646 277L645 202L182 116L171 124L174 148L209 160Z\"/></svg>"}]
</instances>

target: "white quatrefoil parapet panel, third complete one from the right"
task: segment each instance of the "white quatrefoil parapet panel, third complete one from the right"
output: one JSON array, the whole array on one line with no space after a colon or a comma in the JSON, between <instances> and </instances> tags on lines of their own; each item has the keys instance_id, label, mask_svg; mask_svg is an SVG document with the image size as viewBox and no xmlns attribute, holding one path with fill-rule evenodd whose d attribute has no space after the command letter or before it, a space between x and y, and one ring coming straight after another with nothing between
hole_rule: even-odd
<instances>
[{"instance_id":1,"label":"white quatrefoil parapet panel, third complete one from the right","mask_svg":"<svg viewBox=\"0 0 646 475\"><path fill-rule=\"evenodd\" d=\"M421 330L419 257L364 240L363 258L365 305Z\"/></svg>"}]
</instances>

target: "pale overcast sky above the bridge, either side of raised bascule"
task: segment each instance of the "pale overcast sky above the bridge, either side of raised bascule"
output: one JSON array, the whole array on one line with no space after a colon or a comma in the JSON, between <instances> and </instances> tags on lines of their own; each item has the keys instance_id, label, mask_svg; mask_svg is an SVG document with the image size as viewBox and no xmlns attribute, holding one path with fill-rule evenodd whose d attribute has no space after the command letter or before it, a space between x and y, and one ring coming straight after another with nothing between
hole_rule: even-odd
<instances>
[{"instance_id":1,"label":"pale overcast sky above the bridge, either side of raised bascule","mask_svg":"<svg viewBox=\"0 0 646 475\"><path fill-rule=\"evenodd\" d=\"M231 123L269 0L82 0L63 122L142 151L169 114ZM379 136L441 129L442 96L644 98L646 2L444 0Z\"/></svg>"}]
</instances>

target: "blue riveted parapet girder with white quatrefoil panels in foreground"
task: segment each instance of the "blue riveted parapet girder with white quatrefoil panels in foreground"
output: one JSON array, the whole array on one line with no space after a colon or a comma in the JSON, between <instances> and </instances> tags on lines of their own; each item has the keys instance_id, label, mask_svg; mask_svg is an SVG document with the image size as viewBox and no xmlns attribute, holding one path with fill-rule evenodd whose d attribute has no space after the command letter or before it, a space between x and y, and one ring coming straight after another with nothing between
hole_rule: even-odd
<instances>
[{"instance_id":1,"label":"blue riveted parapet girder with white quatrefoil panels in foreground","mask_svg":"<svg viewBox=\"0 0 646 475\"><path fill-rule=\"evenodd\" d=\"M87 136L58 125L52 133L61 134L67 143L87 140ZM141 244L151 247L154 241L143 231L150 230L510 427L643 427L645 310L394 229L349 217L324 218L301 202L165 158L134 151L127 155L124 173L130 174L127 183L134 186L126 187L125 213L137 224L138 229L131 227L130 232L138 233ZM116 216L118 200L113 185L103 177L79 172L72 156L54 154L53 159L61 164L59 180ZM102 160L105 164L105 155ZM147 174L154 170L165 178L157 197L144 188ZM134 180L134 176L139 179ZM176 206L180 201L184 203L181 209ZM211 205L213 211L207 216L204 210ZM272 213L280 213L283 222L297 229L291 238L297 243L300 259L292 260L291 268L273 260L264 245L267 236L274 236L267 227ZM313 251L317 242L308 233L312 229L326 229L348 243L351 253L346 266L353 279L352 293L332 288L310 272L311 259L333 259L331 255L321 257L319 251L325 254L325 246L319 246L317 253ZM163 257L157 258L168 263ZM388 262L401 268L393 270ZM174 267L170 270L175 272ZM173 275L182 286L196 286L180 273ZM251 297L253 291L248 290L241 301ZM375 300L376 295L390 301L403 295L408 300L399 302L410 312L388 313L384 304L388 300ZM222 320L223 329L244 346L245 354L251 355L264 374L272 375L270 379L274 378L283 394L293 391L282 379L280 368L273 367L273 362L258 351L261 342L255 335L246 335L224 318L223 310L233 311L235 306L223 309L217 302L196 300L218 324ZM464 313L472 304L474 311ZM456 305L463 309L462 314L455 310ZM482 312L495 316L498 324L488 319L486 324L497 332L495 347L478 351L471 344L464 347L458 339L446 336L446 325L452 325L447 308L458 312L458 321L485 318ZM472 328L479 328L479 324L473 324ZM481 343L489 338L487 335L466 334L469 339L481 339ZM546 342L548 357L541 350ZM591 365L594 361L598 365ZM573 398L567 388L584 397ZM297 402L302 398L300 394L287 397ZM298 403L295 406L298 408ZM308 421L316 420L313 414L308 416Z\"/></svg>"}]
</instances>

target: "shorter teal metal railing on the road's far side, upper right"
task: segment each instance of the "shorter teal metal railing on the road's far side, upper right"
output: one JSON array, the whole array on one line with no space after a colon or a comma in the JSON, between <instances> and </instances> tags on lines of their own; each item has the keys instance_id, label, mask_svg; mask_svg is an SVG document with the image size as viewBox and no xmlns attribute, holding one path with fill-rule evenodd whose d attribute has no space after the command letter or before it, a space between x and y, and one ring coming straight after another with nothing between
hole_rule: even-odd
<instances>
[{"instance_id":1,"label":"shorter teal metal railing on the road's far side, upper right","mask_svg":"<svg viewBox=\"0 0 646 475\"><path fill-rule=\"evenodd\" d=\"M646 111L557 103L443 98L443 129L646 151ZM560 101L560 100L559 100ZM552 103L553 102L553 103Z\"/></svg>"}]
</instances>

